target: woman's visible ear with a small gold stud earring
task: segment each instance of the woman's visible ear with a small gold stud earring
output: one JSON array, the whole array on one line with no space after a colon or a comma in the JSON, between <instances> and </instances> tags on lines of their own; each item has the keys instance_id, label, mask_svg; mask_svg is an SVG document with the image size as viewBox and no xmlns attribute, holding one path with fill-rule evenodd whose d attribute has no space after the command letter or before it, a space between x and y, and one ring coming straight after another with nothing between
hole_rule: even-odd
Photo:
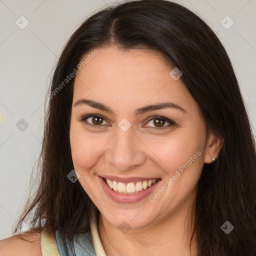
<instances>
[{"instance_id":1,"label":"woman's visible ear with a small gold stud earring","mask_svg":"<svg viewBox=\"0 0 256 256\"><path fill-rule=\"evenodd\" d=\"M208 134L208 139L205 146L205 155L204 162L211 163L211 158L216 159L218 153L223 145L224 139L219 135L215 134L213 131L210 131Z\"/></svg>"}]
</instances>

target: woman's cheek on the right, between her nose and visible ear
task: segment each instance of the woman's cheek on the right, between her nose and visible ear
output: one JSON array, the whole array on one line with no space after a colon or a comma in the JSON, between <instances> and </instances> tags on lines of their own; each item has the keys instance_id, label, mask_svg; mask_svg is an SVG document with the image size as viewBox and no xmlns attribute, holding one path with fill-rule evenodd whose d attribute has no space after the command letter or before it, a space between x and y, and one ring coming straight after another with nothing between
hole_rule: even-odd
<instances>
[{"instance_id":1,"label":"woman's cheek on the right, between her nose and visible ear","mask_svg":"<svg viewBox=\"0 0 256 256\"><path fill-rule=\"evenodd\" d=\"M150 141L150 144L148 144ZM147 140L147 145L155 154L154 161L164 170L166 176L178 180L174 187L188 187L196 184L204 164L205 129L194 125L177 129L168 136Z\"/></svg>"}]
</instances>

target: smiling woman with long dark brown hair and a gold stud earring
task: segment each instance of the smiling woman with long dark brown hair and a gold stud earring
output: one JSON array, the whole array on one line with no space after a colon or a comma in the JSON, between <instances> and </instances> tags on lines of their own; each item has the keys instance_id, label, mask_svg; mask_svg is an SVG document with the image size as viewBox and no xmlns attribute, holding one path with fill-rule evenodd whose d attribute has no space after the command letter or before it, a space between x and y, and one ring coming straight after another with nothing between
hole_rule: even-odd
<instances>
[{"instance_id":1,"label":"smiling woman with long dark brown hair and a gold stud earring","mask_svg":"<svg viewBox=\"0 0 256 256\"><path fill-rule=\"evenodd\" d=\"M255 143L226 51L199 17L164 0L95 13L47 98L41 183L15 232L32 210L33 228L3 252L256 255Z\"/></svg>"}]
</instances>

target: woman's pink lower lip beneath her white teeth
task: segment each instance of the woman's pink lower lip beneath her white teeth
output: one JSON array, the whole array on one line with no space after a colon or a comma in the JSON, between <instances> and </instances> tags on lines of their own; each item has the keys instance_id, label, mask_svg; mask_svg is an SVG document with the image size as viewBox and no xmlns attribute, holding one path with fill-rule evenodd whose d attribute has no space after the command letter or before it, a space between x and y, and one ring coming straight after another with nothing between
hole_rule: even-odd
<instances>
[{"instance_id":1,"label":"woman's pink lower lip beneath her white teeth","mask_svg":"<svg viewBox=\"0 0 256 256\"><path fill-rule=\"evenodd\" d=\"M150 186L149 188L139 191L135 194L121 194L118 192L115 192L113 189L111 189L105 182L104 178L99 176L99 180L102 184L102 187L104 189L104 191L106 192L106 194L113 199L116 202L121 202L121 203L132 203L132 202L138 202L146 197L149 196L149 194L152 192L152 190L154 189L154 187L156 186L156 184L158 184L158 182L160 181L157 180L152 186Z\"/></svg>"}]
</instances>

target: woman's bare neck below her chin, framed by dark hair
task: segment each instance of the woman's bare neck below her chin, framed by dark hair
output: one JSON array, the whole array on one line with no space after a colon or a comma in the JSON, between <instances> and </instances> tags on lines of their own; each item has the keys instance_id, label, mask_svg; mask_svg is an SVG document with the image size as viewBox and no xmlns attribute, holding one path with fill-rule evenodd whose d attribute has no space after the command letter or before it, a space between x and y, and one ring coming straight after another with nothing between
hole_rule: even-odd
<instances>
[{"instance_id":1,"label":"woman's bare neck below her chin, framed by dark hair","mask_svg":"<svg viewBox=\"0 0 256 256\"><path fill-rule=\"evenodd\" d=\"M107 256L161 255L196 256L195 236L189 246L193 216L192 204L176 210L171 216L140 229L125 232L99 215L98 232Z\"/></svg>"}]
</instances>

